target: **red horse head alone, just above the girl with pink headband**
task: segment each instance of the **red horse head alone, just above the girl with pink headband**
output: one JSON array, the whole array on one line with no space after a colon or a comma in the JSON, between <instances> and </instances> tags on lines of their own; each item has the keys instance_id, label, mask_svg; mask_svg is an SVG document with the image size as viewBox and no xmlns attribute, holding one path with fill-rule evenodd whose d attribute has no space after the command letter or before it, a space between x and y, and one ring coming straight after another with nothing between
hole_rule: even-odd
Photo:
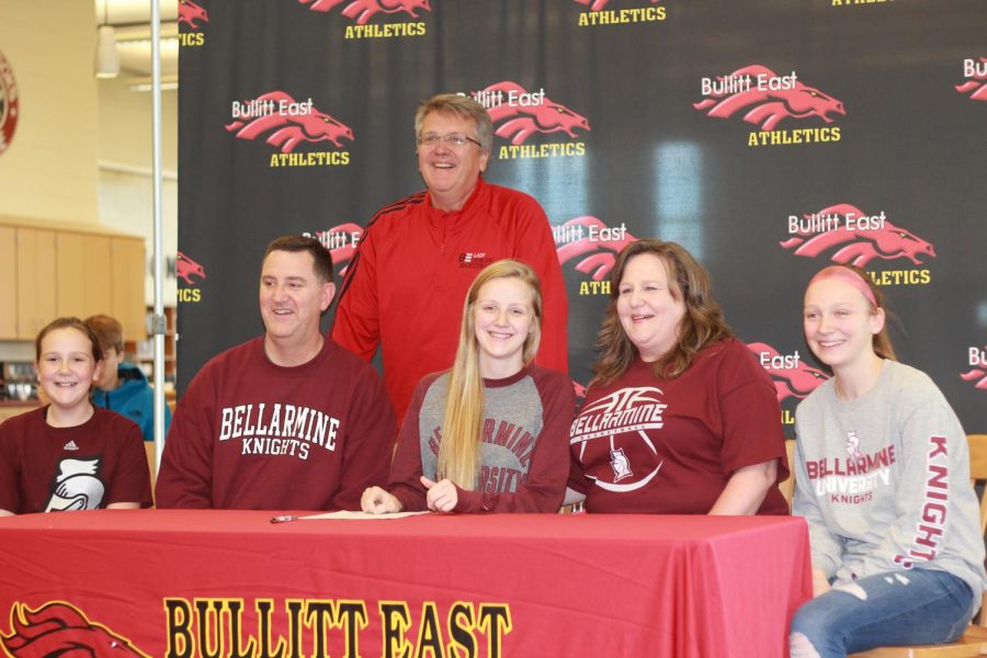
<instances>
[{"instance_id":1,"label":"red horse head alone, just above the girl with pink headband","mask_svg":"<svg viewBox=\"0 0 987 658\"><path fill-rule=\"evenodd\" d=\"M841 227L818 235L797 234L796 237L779 242L785 249L794 249L796 256L815 258L831 247L847 245L832 256L837 263L853 263L858 268L865 266L875 258L893 260L910 259L917 265L922 264L919 256L935 258L932 245L915 234L885 220L881 228L847 230L843 218L848 215L864 215L856 206L847 203L837 204L819 211L820 215L840 216Z\"/></svg>"}]
</instances>

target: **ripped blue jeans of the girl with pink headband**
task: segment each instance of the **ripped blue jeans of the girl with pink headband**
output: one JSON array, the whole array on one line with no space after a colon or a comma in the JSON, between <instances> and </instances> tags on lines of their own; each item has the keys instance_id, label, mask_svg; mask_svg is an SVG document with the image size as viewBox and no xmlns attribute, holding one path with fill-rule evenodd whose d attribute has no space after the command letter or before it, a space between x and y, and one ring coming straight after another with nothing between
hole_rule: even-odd
<instances>
[{"instance_id":1,"label":"ripped blue jeans of the girl with pink headband","mask_svg":"<svg viewBox=\"0 0 987 658\"><path fill-rule=\"evenodd\" d=\"M888 571L855 586L830 590L795 612L792 658L843 658L874 647L952 642L969 623L973 592L945 571Z\"/></svg>"}]
</instances>

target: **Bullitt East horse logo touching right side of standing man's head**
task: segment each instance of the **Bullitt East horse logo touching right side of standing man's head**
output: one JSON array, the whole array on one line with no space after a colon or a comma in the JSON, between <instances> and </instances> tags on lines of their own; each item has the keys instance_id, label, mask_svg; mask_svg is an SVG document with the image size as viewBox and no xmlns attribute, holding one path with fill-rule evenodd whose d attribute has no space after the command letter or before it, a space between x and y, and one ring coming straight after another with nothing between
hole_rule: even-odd
<instances>
[{"instance_id":1,"label":"Bullitt East horse logo touching right side of standing man's head","mask_svg":"<svg viewBox=\"0 0 987 658\"><path fill-rule=\"evenodd\" d=\"M495 134L513 145L524 144L537 133L565 133L576 138L576 131L590 131L585 116L549 99L544 89L529 91L507 80L470 95L490 113Z\"/></svg>"}]
</instances>

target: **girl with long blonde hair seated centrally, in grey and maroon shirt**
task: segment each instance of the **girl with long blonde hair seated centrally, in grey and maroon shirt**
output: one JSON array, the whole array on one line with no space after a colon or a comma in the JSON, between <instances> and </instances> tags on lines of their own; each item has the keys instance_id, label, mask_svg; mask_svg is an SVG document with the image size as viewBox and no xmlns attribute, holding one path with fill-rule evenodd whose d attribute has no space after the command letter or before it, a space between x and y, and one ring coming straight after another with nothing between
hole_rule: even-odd
<instances>
[{"instance_id":1,"label":"girl with long blonde hair seated centrally, in grey and maroon shirt","mask_svg":"<svg viewBox=\"0 0 987 658\"><path fill-rule=\"evenodd\" d=\"M363 511L558 511L576 395L533 364L541 329L534 270L502 260L477 275L455 363L415 389L387 487L368 488Z\"/></svg>"}]
</instances>

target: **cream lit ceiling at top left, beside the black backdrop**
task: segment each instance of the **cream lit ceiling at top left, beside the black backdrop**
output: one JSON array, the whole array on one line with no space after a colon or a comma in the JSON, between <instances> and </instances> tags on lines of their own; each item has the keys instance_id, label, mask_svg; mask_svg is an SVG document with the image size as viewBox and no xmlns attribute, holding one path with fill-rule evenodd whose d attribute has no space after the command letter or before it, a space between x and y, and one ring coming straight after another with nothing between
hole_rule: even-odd
<instances>
[{"instance_id":1,"label":"cream lit ceiling at top left, beside the black backdrop","mask_svg":"<svg viewBox=\"0 0 987 658\"><path fill-rule=\"evenodd\" d=\"M161 21L161 80L178 81L178 1L158 0ZM116 32L120 75L132 84L151 76L151 3L149 0L94 0L95 22ZM95 30L93 30L95 34ZM95 48L95 41L93 41Z\"/></svg>"}]
</instances>

